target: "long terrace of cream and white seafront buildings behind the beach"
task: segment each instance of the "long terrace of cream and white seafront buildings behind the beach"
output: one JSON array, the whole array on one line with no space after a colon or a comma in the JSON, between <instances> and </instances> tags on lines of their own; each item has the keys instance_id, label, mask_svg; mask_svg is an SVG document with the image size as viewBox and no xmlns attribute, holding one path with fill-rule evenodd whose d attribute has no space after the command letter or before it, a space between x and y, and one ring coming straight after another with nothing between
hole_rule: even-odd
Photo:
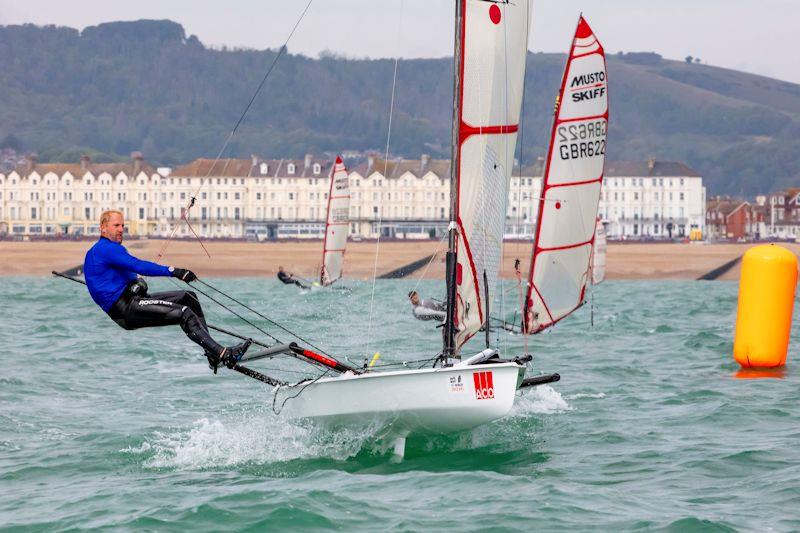
<instances>
[{"instance_id":1,"label":"long terrace of cream and white seafront buildings behind the beach","mask_svg":"<svg viewBox=\"0 0 800 533\"><path fill-rule=\"evenodd\" d=\"M0 174L0 235L95 235L105 209L125 213L131 234L207 238L321 238L332 160L197 159L156 169L134 152L127 163L26 164ZM351 235L438 238L447 226L450 162L369 157L350 169ZM542 161L515 170L506 237L533 237ZM187 224L180 218L192 197ZM607 162L599 214L609 238L704 232L702 177L681 163Z\"/></svg>"}]
</instances>

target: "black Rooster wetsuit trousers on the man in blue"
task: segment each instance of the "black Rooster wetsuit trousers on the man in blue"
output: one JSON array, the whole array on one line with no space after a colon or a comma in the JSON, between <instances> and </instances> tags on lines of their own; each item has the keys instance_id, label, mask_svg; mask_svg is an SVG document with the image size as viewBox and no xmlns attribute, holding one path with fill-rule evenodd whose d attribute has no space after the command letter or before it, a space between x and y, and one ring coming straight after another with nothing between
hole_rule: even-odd
<instances>
[{"instance_id":1,"label":"black Rooster wetsuit trousers on the man in blue","mask_svg":"<svg viewBox=\"0 0 800 533\"><path fill-rule=\"evenodd\" d=\"M134 294L132 286L108 310L108 316L114 322L129 330L180 325L186 335L206 352L222 353L224 347L209 334L203 309L194 292Z\"/></svg>"}]
</instances>

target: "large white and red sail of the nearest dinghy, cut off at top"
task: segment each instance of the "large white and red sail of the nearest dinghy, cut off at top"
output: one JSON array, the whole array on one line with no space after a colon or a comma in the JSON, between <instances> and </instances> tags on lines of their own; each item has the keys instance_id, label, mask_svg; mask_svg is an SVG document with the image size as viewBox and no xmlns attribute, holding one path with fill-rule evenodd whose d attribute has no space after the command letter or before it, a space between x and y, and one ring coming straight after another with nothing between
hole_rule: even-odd
<instances>
[{"instance_id":1,"label":"large white and red sail of the nearest dinghy, cut off at top","mask_svg":"<svg viewBox=\"0 0 800 533\"><path fill-rule=\"evenodd\" d=\"M485 321L484 272L497 283L530 27L528 0L458 1L456 350Z\"/></svg>"}]
</instances>

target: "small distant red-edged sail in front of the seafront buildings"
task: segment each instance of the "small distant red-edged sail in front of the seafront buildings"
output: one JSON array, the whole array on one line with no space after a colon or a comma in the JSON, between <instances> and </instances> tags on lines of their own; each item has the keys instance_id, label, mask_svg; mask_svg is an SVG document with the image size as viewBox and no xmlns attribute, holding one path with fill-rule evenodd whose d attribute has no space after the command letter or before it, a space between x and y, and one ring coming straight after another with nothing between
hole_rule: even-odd
<instances>
[{"instance_id":1,"label":"small distant red-edged sail in front of the seafront buildings","mask_svg":"<svg viewBox=\"0 0 800 533\"><path fill-rule=\"evenodd\" d=\"M325 240L322 244L320 283L330 285L342 277L344 251L350 231L350 179L341 157L331 168L331 188L328 193L328 215L325 220Z\"/></svg>"}]
</instances>

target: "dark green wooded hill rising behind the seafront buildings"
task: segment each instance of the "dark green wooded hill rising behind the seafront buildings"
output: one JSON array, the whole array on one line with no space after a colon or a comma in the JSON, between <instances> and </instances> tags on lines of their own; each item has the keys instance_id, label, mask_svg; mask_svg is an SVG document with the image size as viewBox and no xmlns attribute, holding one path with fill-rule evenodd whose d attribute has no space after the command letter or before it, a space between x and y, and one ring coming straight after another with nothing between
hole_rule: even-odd
<instances>
[{"instance_id":1,"label":"dark green wooded hill rising behind the seafront buildings","mask_svg":"<svg viewBox=\"0 0 800 533\"><path fill-rule=\"evenodd\" d=\"M0 27L0 139L41 161L214 156L276 51L219 50L170 21ZM523 161L543 155L564 56L528 56ZM282 57L224 155L383 151L394 62ZM391 151L449 157L452 59L399 64ZM711 194L800 184L800 85L652 53L609 56L612 159L684 161Z\"/></svg>"}]
</instances>

